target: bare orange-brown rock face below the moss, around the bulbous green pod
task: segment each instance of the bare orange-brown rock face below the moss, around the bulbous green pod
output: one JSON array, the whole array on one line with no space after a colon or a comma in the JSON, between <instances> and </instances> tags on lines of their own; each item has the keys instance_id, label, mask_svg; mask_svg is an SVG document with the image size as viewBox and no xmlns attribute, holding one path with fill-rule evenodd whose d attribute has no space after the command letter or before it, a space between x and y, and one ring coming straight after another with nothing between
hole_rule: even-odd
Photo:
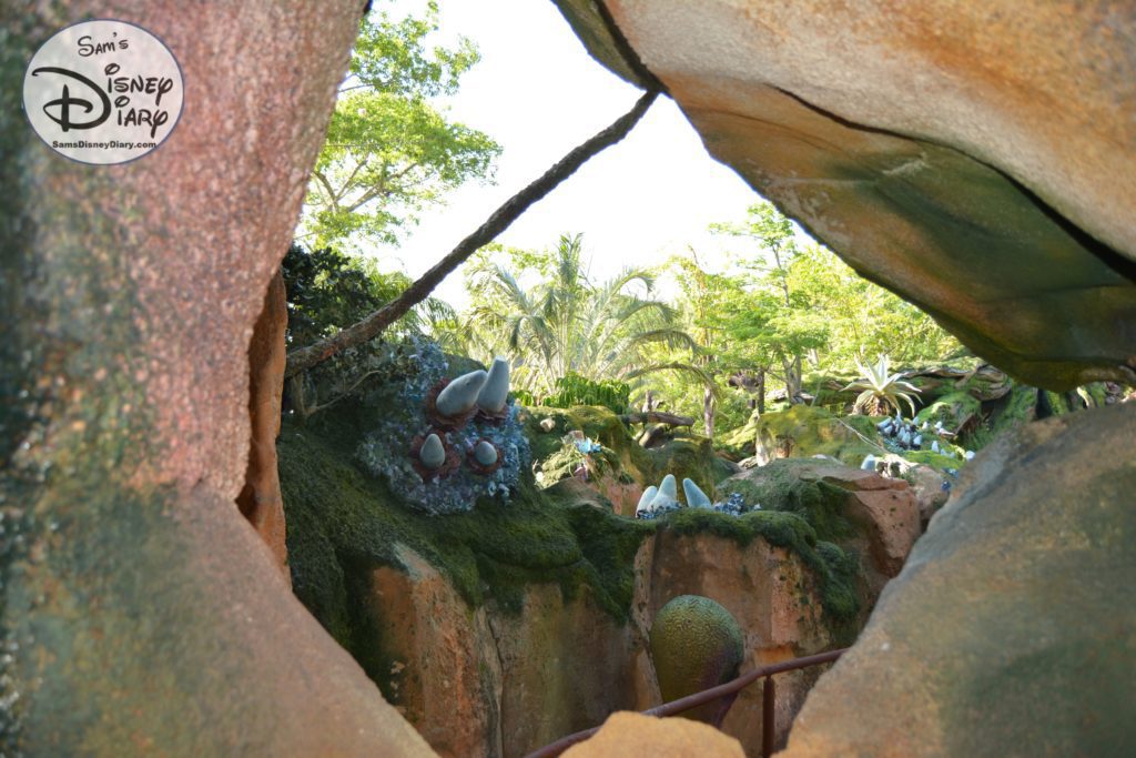
<instances>
[{"instance_id":1,"label":"bare orange-brown rock face below the moss, around the bulbous green pod","mask_svg":"<svg viewBox=\"0 0 1136 758\"><path fill-rule=\"evenodd\" d=\"M404 570L371 574L371 644L392 702L443 756L521 756L613 711L659 705L648 633L679 594L711 598L738 620L743 670L835 647L812 572L760 539L743 547L659 530L635 557L627 623L586 589L566 598L548 583L528 585L517 613L492 601L474 609L420 556L398 552ZM778 677L778 742L820 670ZM759 688L740 695L722 731L751 750L761 744Z\"/></svg>"}]
</instances>

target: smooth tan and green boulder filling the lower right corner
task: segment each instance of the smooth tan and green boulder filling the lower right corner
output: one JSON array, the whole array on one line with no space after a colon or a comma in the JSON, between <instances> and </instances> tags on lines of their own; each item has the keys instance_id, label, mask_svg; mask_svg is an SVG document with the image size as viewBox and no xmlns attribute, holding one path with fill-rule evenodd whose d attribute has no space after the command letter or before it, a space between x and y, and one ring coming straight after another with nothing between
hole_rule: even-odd
<instances>
[{"instance_id":1,"label":"smooth tan and green boulder filling the lower right corner","mask_svg":"<svg viewBox=\"0 0 1136 758\"><path fill-rule=\"evenodd\" d=\"M784 755L1130 752L1134 439L1127 403L983 450Z\"/></svg>"}]
</instances>

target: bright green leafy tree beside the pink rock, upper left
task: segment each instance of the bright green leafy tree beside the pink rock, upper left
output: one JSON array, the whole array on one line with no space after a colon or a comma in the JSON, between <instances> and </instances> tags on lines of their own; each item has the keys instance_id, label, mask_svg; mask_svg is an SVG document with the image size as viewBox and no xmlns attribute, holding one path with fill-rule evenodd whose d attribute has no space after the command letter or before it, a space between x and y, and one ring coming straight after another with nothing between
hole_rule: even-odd
<instances>
[{"instance_id":1,"label":"bright green leafy tree beside the pink rock, upper left","mask_svg":"<svg viewBox=\"0 0 1136 758\"><path fill-rule=\"evenodd\" d=\"M364 18L304 206L300 239L395 244L416 214L465 182L486 178L501 148L432 100L457 92L474 44L427 49L437 3L420 18Z\"/></svg>"}]
</instances>

